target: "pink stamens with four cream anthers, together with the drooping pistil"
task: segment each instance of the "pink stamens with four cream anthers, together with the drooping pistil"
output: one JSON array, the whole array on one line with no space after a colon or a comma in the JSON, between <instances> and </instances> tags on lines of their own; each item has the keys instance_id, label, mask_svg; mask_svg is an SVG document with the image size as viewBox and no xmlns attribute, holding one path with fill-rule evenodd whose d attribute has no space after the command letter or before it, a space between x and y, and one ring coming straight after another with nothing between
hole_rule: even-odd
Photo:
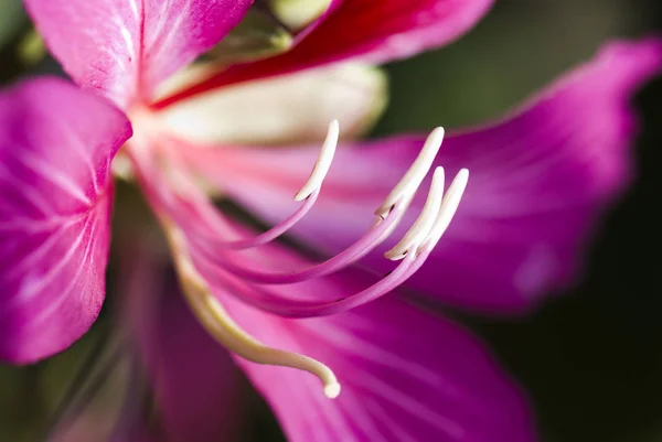
<instances>
[{"instance_id":1,"label":"pink stamens with four cream anthers, together with the drooping pistil","mask_svg":"<svg viewBox=\"0 0 662 442\"><path fill-rule=\"evenodd\" d=\"M393 187L376 208L374 225L354 244L319 263L299 263L297 270L274 271L247 266L242 250L254 249L271 242L293 227L314 205L324 177L331 166L339 140L338 121L329 125L329 132L310 176L296 193L301 206L286 220L271 229L249 238L220 239L235 235L227 220L209 201L207 195L174 164L161 164L150 149L134 149L150 137L150 126L145 115L138 114L136 141L127 152L137 171L148 200L167 234L174 257L175 269L184 297L200 323L229 351L250 362L286 366L309 371L324 386L324 394L334 398L340 384L333 371L310 357L270 348L236 324L214 294L213 284L222 284L244 303L271 314L286 317L312 317L342 313L365 304L397 288L425 262L452 219L467 186L469 172L462 169L447 192L444 193L444 169L436 168L430 191L419 216L403 238L385 254L399 265L374 284L337 300L301 300L287 295L278 287L322 278L356 263L395 230L410 206L414 196L433 168L441 142L444 129L435 129L426 140L420 153L403 179ZM143 128L147 133L142 132ZM167 161L167 160L164 160ZM299 262L299 261L297 261ZM260 263L258 260L257 263ZM216 281L216 282L210 282ZM220 282L218 282L220 281Z\"/></svg>"}]
</instances>

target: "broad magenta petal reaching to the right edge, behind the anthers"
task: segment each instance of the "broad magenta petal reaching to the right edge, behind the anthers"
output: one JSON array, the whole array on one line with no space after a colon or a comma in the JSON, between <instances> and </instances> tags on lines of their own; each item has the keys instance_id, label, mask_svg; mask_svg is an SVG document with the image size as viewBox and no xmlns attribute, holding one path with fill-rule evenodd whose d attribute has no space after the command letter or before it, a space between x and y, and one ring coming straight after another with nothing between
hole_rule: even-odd
<instances>
[{"instance_id":1,"label":"broad magenta petal reaching to the right edge, behind the anthers","mask_svg":"<svg viewBox=\"0 0 662 442\"><path fill-rule=\"evenodd\" d=\"M407 285L465 308L517 312L572 283L600 215L630 182L637 123L629 100L661 66L659 41L613 43L515 115L447 136L437 163L448 176L468 168L469 186L447 235ZM317 212L295 233L330 252L355 240L423 142L415 136L339 149ZM291 212L284 202L306 181L318 149L186 154L210 181L279 222ZM391 266L380 252L366 262Z\"/></svg>"}]
</instances>

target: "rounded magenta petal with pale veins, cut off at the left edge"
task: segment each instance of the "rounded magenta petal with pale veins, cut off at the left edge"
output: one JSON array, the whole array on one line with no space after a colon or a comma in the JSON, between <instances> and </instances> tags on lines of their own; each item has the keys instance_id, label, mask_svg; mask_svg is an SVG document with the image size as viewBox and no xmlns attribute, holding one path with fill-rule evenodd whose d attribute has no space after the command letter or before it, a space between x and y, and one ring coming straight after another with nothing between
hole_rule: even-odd
<instances>
[{"instance_id":1,"label":"rounded magenta petal with pale veins, cut off at the left edge","mask_svg":"<svg viewBox=\"0 0 662 442\"><path fill-rule=\"evenodd\" d=\"M61 79L0 94L0 360L57 353L96 319L110 160L130 133L119 110Z\"/></svg>"}]
</instances>

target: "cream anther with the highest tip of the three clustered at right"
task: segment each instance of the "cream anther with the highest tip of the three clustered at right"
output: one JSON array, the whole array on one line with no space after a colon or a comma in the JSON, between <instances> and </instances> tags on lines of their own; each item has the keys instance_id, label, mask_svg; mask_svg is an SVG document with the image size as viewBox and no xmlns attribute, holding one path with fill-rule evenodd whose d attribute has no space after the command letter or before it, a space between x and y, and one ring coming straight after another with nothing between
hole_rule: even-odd
<instances>
[{"instance_id":1,"label":"cream anther with the highest tip of the three clustered at right","mask_svg":"<svg viewBox=\"0 0 662 442\"><path fill-rule=\"evenodd\" d=\"M399 200L403 198L413 198L416 190L427 175L428 171L433 166L433 162L437 157L437 152L439 152L439 148L441 147L441 142L444 141L444 128L437 128L433 130L429 134L420 153L414 163L405 173L405 176L393 187L384 203L375 211L375 215L385 216L385 214L391 211L391 207Z\"/></svg>"}]
</instances>

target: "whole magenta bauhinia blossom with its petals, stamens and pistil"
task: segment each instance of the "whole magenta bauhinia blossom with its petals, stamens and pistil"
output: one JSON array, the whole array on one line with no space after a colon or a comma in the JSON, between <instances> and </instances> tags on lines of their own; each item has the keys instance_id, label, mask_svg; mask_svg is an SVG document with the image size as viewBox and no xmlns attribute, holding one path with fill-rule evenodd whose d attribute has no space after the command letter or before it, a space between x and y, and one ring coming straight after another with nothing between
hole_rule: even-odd
<instances>
[{"instance_id":1,"label":"whole magenta bauhinia blossom with its petals, stamens and pistil","mask_svg":"<svg viewBox=\"0 0 662 442\"><path fill-rule=\"evenodd\" d=\"M284 115L319 111L296 90L306 84L314 97L316 86L332 84L337 67L320 66L439 46L491 2L333 0L285 54L179 78L250 1L25 3L78 86L41 78L0 96L0 359L57 353L96 319L113 166L140 184L189 308L241 356L290 439L535 439L525 401L485 349L396 289L517 312L572 282L591 227L629 182L637 123L628 100L660 69L658 40L608 45L503 120L447 136L440 151L441 129L427 140L337 149L334 121L319 153L239 145L268 144L270 132L277 142L316 139L317 119L301 125ZM356 126L374 112L352 114L375 97L365 85L334 101L343 127L344 110ZM277 114L264 118L263 106L278 99ZM237 133L242 121L247 130ZM441 165L456 176L446 192ZM229 196L275 227L255 234L210 195ZM286 231L332 257L314 262L274 241ZM402 261L393 269L383 254ZM342 384L342 394L329 401L313 377L285 367L316 375L329 397Z\"/></svg>"}]
</instances>

